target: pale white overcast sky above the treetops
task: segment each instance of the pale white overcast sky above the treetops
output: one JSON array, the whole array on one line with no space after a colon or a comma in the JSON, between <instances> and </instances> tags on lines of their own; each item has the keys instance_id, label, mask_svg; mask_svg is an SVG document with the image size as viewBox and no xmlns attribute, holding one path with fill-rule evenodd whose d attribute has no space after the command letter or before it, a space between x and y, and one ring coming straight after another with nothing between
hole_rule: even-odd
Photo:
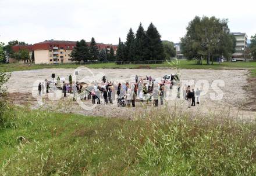
<instances>
[{"instance_id":1,"label":"pale white overcast sky above the treetops","mask_svg":"<svg viewBox=\"0 0 256 176\"><path fill-rule=\"evenodd\" d=\"M152 22L162 40L179 42L196 15L229 19L232 32L256 34L256 1L202 0L0 0L0 42L46 39L117 44L140 22Z\"/></svg>"}]
</instances>

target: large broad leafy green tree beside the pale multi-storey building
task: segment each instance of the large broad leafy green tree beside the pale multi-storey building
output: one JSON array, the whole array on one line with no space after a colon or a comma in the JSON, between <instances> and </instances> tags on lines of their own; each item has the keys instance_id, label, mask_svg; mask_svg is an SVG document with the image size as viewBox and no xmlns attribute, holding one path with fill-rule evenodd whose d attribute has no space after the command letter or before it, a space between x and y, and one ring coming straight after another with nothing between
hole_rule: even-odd
<instances>
[{"instance_id":1,"label":"large broad leafy green tree beside the pale multi-storey building","mask_svg":"<svg viewBox=\"0 0 256 176\"><path fill-rule=\"evenodd\" d=\"M187 58L207 57L207 64L216 56L230 57L233 37L229 34L227 19L198 17L190 21L186 35L181 39L183 53Z\"/></svg>"}]
</instances>

